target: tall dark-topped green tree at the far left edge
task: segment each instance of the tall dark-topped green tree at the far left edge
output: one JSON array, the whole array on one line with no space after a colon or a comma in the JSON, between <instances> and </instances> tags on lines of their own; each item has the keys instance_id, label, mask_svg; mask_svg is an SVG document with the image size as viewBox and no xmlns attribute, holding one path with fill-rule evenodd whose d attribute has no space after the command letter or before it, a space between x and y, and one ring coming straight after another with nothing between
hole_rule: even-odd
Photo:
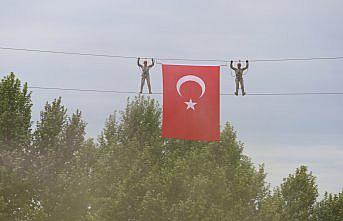
<instances>
[{"instance_id":1,"label":"tall dark-topped green tree at the far left edge","mask_svg":"<svg viewBox=\"0 0 343 221\"><path fill-rule=\"evenodd\" d=\"M0 220L38 220L30 173L31 93L14 73L0 82Z\"/></svg>"}]
</instances>

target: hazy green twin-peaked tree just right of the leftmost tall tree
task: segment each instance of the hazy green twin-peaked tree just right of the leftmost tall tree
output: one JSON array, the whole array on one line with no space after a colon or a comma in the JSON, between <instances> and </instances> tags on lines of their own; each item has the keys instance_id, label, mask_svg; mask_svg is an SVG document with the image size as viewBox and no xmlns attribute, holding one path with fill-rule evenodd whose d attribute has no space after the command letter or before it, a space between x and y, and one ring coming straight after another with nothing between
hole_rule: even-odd
<instances>
[{"instance_id":1,"label":"hazy green twin-peaked tree just right of the leftmost tall tree","mask_svg":"<svg viewBox=\"0 0 343 221\"><path fill-rule=\"evenodd\" d=\"M77 110L71 117L62 105L61 97L46 103L34 132L35 182L46 220L66 220L86 211L82 194L90 162L79 162L92 141L85 142L86 123ZM85 164L83 164L85 163ZM76 203L77 202L77 203ZM83 210L82 210L83 209ZM82 210L80 212L80 210ZM80 217L81 219L82 217Z\"/></svg>"}]
</instances>

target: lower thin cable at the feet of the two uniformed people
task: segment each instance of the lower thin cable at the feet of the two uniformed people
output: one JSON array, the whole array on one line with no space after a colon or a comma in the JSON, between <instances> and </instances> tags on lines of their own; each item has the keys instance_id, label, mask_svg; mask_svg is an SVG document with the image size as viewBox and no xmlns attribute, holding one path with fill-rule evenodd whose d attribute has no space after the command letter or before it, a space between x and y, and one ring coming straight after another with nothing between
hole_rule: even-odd
<instances>
[{"instance_id":1,"label":"lower thin cable at the feet of the two uniformed people","mask_svg":"<svg viewBox=\"0 0 343 221\"><path fill-rule=\"evenodd\" d=\"M81 88L60 88L60 87L39 87L33 86L30 89L38 90L58 90L58 91L72 91L72 92L91 92L91 93L114 93L114 94L139 94L135 91L117 91L117 90L97 90L97 89L81 89ZM148 94L148 93L143 93ZM155 95L162 95L162 92L152 93ZM234 96L231 93L220 93L221 96ZM343 95L343 91L331 91L331 92L279 92L279 93L249 93L246 96L300 96L300 95Z\"/></svg>"}]
</instances>

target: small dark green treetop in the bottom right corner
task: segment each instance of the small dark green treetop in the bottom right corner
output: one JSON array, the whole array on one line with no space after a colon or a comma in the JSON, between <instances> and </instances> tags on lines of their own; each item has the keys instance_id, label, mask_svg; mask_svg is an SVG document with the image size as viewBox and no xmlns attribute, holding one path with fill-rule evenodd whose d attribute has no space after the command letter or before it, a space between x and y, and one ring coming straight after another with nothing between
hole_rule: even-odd
<instances>
[{"instance_id":1,"label":"small dark green treetop in the bottom right corner","mask_svg":"<svg viewBox=\"0 0 343 221\"><path fill-rule=\"evenodd\" d=\"M315 207L315 218L318 221L343 220L343 192L325 193L324 199Z\"/></svg>"}]
</instances>

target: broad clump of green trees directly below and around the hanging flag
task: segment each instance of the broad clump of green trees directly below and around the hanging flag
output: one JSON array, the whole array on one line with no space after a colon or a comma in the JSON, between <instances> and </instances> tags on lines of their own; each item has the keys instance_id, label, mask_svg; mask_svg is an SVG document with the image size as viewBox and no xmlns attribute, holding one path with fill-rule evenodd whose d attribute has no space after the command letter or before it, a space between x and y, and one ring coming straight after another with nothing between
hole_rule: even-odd
<instances>
[{"instance_id":1,"label":"broad clump of green trees directly below and around the hanging flag","mask_svg":"<svg viewBox=\"0 0 343 221\"><path fill-rule=\"evenodd\" d=\"M163 141L154 100L129 101L100 137L97 220L255 220L263 167L242 154L227 124L220 143Z\"/></svg>"}]
</instances>

